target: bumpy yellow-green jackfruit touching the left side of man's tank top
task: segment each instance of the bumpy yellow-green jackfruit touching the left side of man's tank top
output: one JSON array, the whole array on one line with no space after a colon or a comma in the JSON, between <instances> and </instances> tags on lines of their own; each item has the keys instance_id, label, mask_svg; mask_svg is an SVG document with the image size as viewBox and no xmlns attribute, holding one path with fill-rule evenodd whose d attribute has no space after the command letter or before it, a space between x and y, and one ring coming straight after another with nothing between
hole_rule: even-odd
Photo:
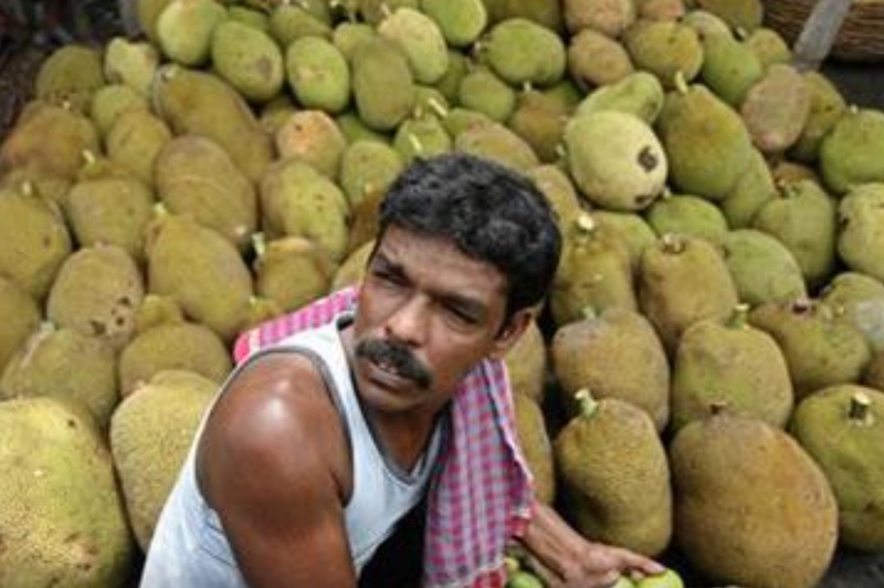
<instances>
[{"instance_id":1,"label":"bumpy yellow-green jackfruit touching the left side of man's tank top","mask_svg":"<svg viewBox=\"0 0 884 588\"><path fill-rule=\"evenodd\" d=\"M110 451L129 522L147 552L200 420L218 392L192 371L166 370L128 396L110 421Z\"/></svg>"}]
</instances>

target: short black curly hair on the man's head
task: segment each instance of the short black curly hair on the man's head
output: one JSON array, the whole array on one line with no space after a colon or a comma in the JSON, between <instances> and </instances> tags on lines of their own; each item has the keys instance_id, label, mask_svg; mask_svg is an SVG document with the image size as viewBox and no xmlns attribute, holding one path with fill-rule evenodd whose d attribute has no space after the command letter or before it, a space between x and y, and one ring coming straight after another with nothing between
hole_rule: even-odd
<instances>
[{"instance_id":1,"label":"short black curly hair on the man's head","mask_svg":"<svg viewBox=\"0 0 884 588\"><path fill-rule=\"evenodd\" d=\"M380 235L390 225L451 239L507 280L507 317L546 295L559 261L554 211L526 177L487 159L446 154L417 159L390 186Z\"/></svg>"}]
</instances>

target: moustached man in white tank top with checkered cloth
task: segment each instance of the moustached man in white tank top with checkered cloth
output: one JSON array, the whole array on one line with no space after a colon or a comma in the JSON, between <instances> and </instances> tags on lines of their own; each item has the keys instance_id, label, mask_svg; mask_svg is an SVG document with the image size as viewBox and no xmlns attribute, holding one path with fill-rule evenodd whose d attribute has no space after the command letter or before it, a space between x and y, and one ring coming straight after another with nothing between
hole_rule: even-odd
<instances>
[{"instance_id":1,"label":"moustached man in white tank top with checkered cloth","mask_svg":"<svg viewBox=\"0 0 884 588\"><path fill-rule=\"evenodd\" d=\"M662 571L534 502L508 439L495 366L534 318L559 249L543 197L501 166L450 155L407 169L358 295L329 298L354 311L253 354L224 386L143 586L351 587L428 493L427 586L499 586L511 533L564 586Z\"/></svg>"}]
</instances>

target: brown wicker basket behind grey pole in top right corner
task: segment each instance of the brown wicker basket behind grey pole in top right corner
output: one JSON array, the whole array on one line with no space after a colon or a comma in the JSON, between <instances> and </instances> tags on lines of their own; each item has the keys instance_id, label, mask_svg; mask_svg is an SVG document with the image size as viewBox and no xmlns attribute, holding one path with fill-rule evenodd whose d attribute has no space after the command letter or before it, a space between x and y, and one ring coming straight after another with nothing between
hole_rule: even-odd
<instances>
[{"instance_id":1,"label":"brown wicker basket behind grey pole in top right corner","mask_svg":"<svg viewBox=\"0 0 884 588\"><path fill-rule=\"evenodd\" d=\"M764 0L765 24L789 44L798 39L815 0ZM884 0L854 0L832 48L845 61L884 61Z\"/></svg>"}]
</instances>

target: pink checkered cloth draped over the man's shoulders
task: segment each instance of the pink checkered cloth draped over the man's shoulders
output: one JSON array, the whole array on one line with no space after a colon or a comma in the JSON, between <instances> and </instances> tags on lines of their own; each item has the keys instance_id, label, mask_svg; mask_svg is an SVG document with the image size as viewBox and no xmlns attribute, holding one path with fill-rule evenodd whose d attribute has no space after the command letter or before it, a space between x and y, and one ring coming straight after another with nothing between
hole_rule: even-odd
<instances>
[{"instance_id":1,"label":"pink checkered cloth draped over the man's shoulders","mask_svg":"<svg viewBox=\"0 0 884 588\"><path fill-rule=\"evenodd\" d=\"M298 330L355 307L356 288L341 290L242 334L236 363ZM515 441L509 382L503 361L484 360L452 402L451 445L433 483L427 513L423 585L492 588L506 582L504 546L530 516L532 477Z\"/></svg>"}]
</instances>

